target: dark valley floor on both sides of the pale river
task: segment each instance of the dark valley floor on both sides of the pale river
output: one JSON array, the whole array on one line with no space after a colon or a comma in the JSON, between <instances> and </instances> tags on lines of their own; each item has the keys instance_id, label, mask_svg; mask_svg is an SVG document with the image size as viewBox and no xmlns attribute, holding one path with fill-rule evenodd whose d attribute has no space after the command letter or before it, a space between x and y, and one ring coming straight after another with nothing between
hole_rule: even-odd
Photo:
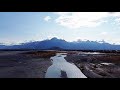
<instances>
[{"instance_id":1,"label":"dark valley floor on both sides of the pale river","mask_svg":"<svg viewBox=\"0 0 120 90\"><path fill-rule=\"evenodd\" d=\"M57 51L0 51L0 78L44 78L50 57ZM65 59L74 63L88 78L120 78L119 53L66 51Z\"/></svg>"}]
</instances>

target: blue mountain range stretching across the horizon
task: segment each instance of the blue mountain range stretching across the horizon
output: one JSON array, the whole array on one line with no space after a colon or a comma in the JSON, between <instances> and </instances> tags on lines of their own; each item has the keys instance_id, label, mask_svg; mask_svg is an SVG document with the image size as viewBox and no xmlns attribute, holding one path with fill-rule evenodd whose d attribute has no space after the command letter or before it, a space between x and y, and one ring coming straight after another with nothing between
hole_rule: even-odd
<instances>
[{"instance_id":1,"label":"blue mountain range stretching across the horizon","mask_svg":"<svg viewBox=\"0 0 120 90\"><path fill-rule=\"evenodd\" d=\"M3 45L0 44L0 49L67 49L67 50L120 50L120 45L114 45L105 41L74 41L68 42L56 37L43 41L34 41L21 43L20 45Z\"/></svg>"}]
</instances>

